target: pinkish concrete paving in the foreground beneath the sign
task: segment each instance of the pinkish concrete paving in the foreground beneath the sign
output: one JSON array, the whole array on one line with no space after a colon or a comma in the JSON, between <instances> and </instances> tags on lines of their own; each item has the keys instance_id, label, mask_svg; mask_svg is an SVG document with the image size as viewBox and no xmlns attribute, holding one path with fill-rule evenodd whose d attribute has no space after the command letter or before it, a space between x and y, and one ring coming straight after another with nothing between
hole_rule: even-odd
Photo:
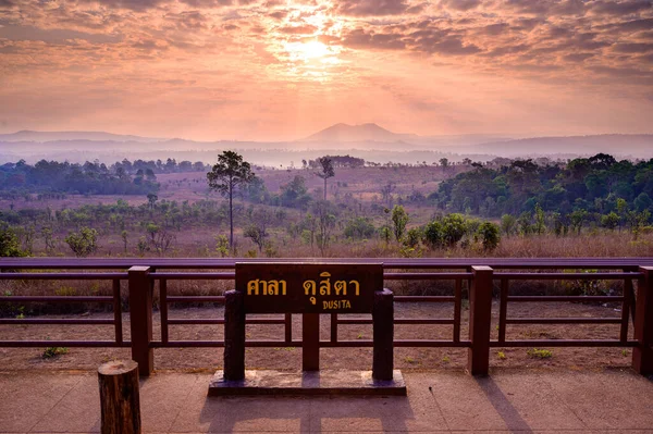
<instances>
[{"instance_id":1,"label":"pinkish concrete paving in the foreground beneath the sign","mask_svg":"<svg viewBox=\"0 0 653 434\"><path fill-rule=\"evenodd\" d=\"M653 382L628 370L406 373L407 397L208 397L210 373L141 381L147 433L653 433ZM94 372L0 372L0 433L100 431Z\"/></svg>"}]
</instances>

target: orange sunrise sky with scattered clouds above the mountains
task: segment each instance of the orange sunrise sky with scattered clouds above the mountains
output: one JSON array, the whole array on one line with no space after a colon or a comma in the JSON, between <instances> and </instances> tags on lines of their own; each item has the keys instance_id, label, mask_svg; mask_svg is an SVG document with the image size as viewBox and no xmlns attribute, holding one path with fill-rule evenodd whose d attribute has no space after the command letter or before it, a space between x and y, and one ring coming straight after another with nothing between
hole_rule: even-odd
<instances>
[{"instance_id":1,"label":"orange sunrise sky with scattered clouds above the mountains","mask_svg":"<svg viewBox=\"0 0 653 434\"><path fill-rule=\"evenodd\" d=\"M0 0L0 133L653 133L649 0Z\"/></svg>"}]
</instances>

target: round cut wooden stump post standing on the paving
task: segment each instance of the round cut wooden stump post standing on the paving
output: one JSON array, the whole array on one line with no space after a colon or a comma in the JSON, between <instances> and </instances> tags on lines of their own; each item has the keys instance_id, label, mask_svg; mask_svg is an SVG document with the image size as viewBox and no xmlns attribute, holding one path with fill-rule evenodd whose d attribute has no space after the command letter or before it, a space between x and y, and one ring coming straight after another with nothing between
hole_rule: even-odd
<instances>
[{"instance_id":1,"label":"round cut wooden stump post standing on the paving","mask_svg":"<svg viewBox=\"0 0 653 434\"><path fill-rule=\"evenodd\" d=\"M138 363L110 361L98 369L102 434L140 433Z\"/></svg>"}]
</instances>

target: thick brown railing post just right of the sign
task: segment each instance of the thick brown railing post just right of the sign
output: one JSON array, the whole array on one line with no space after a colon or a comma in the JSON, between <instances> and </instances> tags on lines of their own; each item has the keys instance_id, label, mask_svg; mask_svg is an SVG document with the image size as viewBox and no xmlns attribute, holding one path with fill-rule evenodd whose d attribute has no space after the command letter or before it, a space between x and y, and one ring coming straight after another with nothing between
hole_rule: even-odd
<instances>
[{"instance_id":1,"label":"thick brown railing post just right of the sign","mask_svg":"<svg viewBox=\"0 0 653 434\"><path fill-rule=\"evenodd\" d=\"M490 266L471 268L469 289L469 340L467 370L472 375L488 375L490 368L490 328L492 322L492 273Z\"/></svg>"}]
</instances>

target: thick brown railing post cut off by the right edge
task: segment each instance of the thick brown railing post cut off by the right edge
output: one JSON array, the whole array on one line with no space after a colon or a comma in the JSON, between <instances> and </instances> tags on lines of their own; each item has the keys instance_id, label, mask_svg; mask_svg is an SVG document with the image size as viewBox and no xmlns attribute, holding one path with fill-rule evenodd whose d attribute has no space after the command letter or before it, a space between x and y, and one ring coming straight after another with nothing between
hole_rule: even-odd
<instances>
[{"instance_id":1,"label":"thick brown railing post cut off by the right edge","mask_svg":"<svg viewBox=\"0 0 653 434\"><path fill-rule=\"evenodd\" d=\"M632 368L642 375L653 374L653 266L640 266L644 276L637 285Z\"/></svg>"}]
</instances>

